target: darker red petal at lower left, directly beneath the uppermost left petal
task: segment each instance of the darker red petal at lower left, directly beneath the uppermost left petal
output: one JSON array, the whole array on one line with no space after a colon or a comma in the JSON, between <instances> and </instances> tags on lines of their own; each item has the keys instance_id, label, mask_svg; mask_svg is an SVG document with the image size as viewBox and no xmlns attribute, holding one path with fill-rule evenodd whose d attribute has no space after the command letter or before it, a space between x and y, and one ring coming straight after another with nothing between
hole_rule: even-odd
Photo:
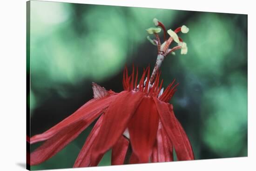
<instances>
[{"instance_id":1,"label":"darker red petal at lower left, directly beneath the uppermost left petal","mask_svg":"<svg viewBox=\"0 0 256 171\"><path fill-rule=\"evenodd\" d=\"M58 132L54 137L49 138L40 147L31 153L31 165L40 164L61 151L68 143L76 138L86 127L86 122L79 121Z\"/></svg>"}]
</instances>

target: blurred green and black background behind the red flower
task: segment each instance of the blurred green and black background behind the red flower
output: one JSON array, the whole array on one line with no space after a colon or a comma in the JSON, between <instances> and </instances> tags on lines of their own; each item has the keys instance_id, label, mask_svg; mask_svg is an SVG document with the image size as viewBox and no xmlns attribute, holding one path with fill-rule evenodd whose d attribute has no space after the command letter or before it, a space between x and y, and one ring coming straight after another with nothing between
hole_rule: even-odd
<instances>
[{"instance_id":1,"label":"blurred green and black background behind the red flower","mask_svg":"<svg viewBox=\"0 0 256 171\"><path fill-rule=\"evenodd\" d=\"M27 10L30 136L92 99L92 82L121 92L125 64L140 72L154 66L157 49L145 29L157 18L168 29L190 29L179 34L188 54L168 56L161 70L164 87L179 83L170 103L195 158L247 156L247 15L43 1L30 1ZM72 167L93 125L31 169ZM110 157L111 150L99 165L110 165Z\"/></svg>"}]
</instances>

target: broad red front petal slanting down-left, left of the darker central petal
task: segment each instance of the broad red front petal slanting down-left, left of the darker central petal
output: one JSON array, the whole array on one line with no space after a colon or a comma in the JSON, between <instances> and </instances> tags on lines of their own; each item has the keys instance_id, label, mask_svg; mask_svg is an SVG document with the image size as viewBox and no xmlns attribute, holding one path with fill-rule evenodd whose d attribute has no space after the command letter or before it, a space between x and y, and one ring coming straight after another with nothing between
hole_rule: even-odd
<instances>
[{"instance_id":1,"label":"broad red front petal slanting down-left, left of the darker central petal","mask_svg":"<svg viewBox=\"0 0 256 171\"><path fill-rule=\"evenodd\" d=\"M93 160L96 160L116 143L125 128L127 128L127 123L143 96L144 94L141 92L123 91L109 105L99 135L94 142Z\"/></svg>"}]
</instances>

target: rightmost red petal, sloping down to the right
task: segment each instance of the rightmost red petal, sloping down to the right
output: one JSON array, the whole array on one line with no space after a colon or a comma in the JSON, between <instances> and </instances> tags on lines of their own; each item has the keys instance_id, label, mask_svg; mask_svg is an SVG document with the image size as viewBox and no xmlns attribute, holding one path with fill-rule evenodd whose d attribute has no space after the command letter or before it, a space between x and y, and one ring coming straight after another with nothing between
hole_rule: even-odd
<instances>
[{"instance_id":1,"label":"rightmost red petal, sloping down to the right","mask_svg":"<svg viewBox=\"0 0 256 171\"><path fill-rule=\"evenodd\" d=\"M155 97L154 100L162 125L174 145L178 160L193 160L194 153L189 139L177 122L173 110L168 103L162 102Z\"/></svg>"}]
</instances>

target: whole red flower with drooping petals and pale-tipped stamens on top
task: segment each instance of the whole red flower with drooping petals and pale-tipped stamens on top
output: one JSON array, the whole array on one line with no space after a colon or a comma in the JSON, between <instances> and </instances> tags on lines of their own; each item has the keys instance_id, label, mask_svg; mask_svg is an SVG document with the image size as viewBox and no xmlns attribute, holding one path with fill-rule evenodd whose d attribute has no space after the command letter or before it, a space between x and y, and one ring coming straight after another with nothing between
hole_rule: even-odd
<instances>
[{"instance_id":1,"label":"whole red flower with drooping petals and pale-tipped stamens on top","mask_svg":"<svg viewBox=\"0 0 256 171\"><path fill-rule=\"evenodd\" d=\"M126 163L130 164L173 161L173 148L178 160L194 159L189 138L175 117L173 105L168 103L178 84L174 85L173 80L163 91L159 71L163 59L169 53L177 49L182 49L182 54L187 53L186 43L176 33L187 33L189 29L182 26L174 32L168 30L170 37L167 40L165 27L157 19L153 21L165 31L165 41L161 45L157 34L161 28L147 29L149 34L156 36L156 40L148 37L149 41L158 47L158 57L151 76L148 66L138 82L138 68L135 74L133 67L129 75L126 67L122 81L124 91L120 93L107 91L93 83L94 99L46 132L30 138L30 144L45 141L31 153L31 165L40 164L54 156L97 118L74 167L96 166L109 149L112 149L113 165L124 164L127 158ZM168 49L172 40L178 46ZM128 149L132 151L130 155Z\"/></svg>"}]
</instances>

